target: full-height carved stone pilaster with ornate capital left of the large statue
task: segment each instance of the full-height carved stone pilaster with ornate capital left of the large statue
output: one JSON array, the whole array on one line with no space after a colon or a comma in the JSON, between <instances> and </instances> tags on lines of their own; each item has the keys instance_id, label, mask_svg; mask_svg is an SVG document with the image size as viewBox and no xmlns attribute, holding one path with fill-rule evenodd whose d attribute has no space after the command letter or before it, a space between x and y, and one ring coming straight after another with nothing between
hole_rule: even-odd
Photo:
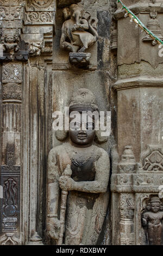
<instances>
[{"instance_id":1,"label":"full-height carved stone pilaster with ornate capital left of the large statue","mask_svg":"<svg viewBox=\"0 0 163 256\"><path fill-rule=\"evenodd\" d=\"M52 60L55 1L0 0L0 4L0 243L40 245L45 72L51 72L50 65L48 71L43 65Z\"/></svg>"}]
</instances>

